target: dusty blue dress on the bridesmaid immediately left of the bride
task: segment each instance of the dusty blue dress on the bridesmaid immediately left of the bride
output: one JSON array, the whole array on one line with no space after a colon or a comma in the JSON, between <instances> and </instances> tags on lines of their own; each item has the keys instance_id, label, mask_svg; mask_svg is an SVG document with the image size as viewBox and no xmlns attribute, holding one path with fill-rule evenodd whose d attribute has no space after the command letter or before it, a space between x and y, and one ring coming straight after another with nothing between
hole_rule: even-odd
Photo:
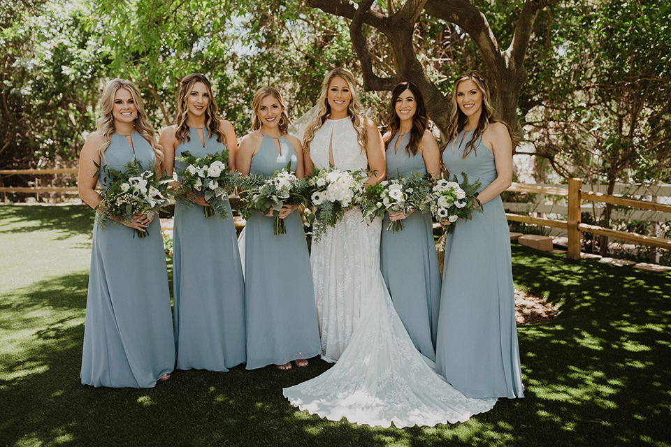
<instances>
[{"instance_id":1,"label":"dusty blue dress on the bridesmaid immediately left of the bride","mask_svg":"<svg viewBox=\"0 0 671 447\"><path fill-rule=\"evenodd\" d=\"M296 168L296 152L280 137L264 136L250 173L273 175ZM245 305L247 306L247 369L284 365L322 353L317 328L315 291L298 210L284 219L287 233L273 234L274 217L254 214L245 226Z\"/></svg>"}]
</instances>

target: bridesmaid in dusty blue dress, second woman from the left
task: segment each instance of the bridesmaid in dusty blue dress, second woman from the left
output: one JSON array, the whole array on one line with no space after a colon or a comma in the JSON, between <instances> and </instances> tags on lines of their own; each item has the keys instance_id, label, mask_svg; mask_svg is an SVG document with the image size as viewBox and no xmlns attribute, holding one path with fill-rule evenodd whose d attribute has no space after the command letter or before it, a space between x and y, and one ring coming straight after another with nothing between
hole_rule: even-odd
<instances>
[{"instance_id":1,"label":"bridesmaid in dusty blue dress, second woman from the left","mask_svg":"<svg viewBox=\"0 0 671 447\"><path fill-rule=\"evenodd\" d=\"M161 132L168 173L185 163L175 157L189 151L205 156L229 150L236 168L238 142L233 125L217 116L208 78L187 75L180 82L177 124ZM186 206L185 200L195 205ZM226 198L228 205L228 199ZM245 362L245 283L233 215L205 217L203 196L178 198L173 228L173 299L177 369L226 372Z\"/></svg>"}]
</instances>

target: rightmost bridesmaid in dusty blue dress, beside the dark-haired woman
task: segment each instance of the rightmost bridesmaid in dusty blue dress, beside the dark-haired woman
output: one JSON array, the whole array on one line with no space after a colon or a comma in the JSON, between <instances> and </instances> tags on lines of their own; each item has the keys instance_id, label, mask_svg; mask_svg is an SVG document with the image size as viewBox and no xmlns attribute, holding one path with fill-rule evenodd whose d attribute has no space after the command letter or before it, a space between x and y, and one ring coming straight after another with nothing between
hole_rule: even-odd
<instances>
[{"instance_id":1,"label":"rightmost bridesmaid in dusty blue dress, beside the dark-haired woman","mask_svg":"<svg viewBox=\"0 0 671 447\"><path fill-rule=\"evenodd\" d=\"M445 168L479 179L484 212L458 220L445 240L436 372L467 397L524 397L510 235L500 193L512 181L513 139L494 119L489 87L478 73L454 83L442 152ZM460 178L461 181L461 178Z\"/></svg>"}]
</instances>

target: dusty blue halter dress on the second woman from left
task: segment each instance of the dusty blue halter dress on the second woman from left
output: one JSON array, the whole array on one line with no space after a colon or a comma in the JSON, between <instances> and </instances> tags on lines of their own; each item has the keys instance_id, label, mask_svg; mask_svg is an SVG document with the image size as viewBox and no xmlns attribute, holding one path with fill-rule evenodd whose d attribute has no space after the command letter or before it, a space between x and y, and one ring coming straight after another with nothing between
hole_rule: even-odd
<instances>
[{"instance_id":1,"label":"dusty blue halter dress on the second woman from left","mask_svg":"<svg viewBox=\"0 0 671 447\"><path fill-rule=\"evenodd\" d=\"M192 128L175 158L225 148L215 135ZM175 171L185 168L175 161ZM228 198L226 198L228 205ZM173 299L177 369L228 371L245 362L245 283L233 215L205 217L203 207L177 199L173 226Z\"/></svg>"}]
</instances>

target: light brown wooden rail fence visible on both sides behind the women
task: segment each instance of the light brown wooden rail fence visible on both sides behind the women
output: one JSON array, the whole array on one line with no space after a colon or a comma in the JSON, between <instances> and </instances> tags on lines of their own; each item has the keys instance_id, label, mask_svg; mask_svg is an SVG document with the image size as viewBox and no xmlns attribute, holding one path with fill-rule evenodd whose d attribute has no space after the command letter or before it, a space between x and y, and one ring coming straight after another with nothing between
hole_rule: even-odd
<instances>
[{"instance_id":1,"label":"light brown wooden rail fence visible on both sides behind the women","mask_svg":"<svg viewBox=\"0 0 671 447\"><path fill-rule=\"evenodd\" d=\"M16 169L16 170L0 170L0 179L2 176L9 175L55 175L55 174L76 174L77 168L64 169ZM37 183L37 182L36 182ZM547 226L550 228L560 228L567 231L568 235L568 257L571 259L580 258L580 241L581 232L595 233L597 235L604 235L613 237L615 239L627 240L630 242L637 242L638 244L649 245L651 247L658 247L662 249L671 250L671 240L663 237L651 237L640 235L637 233L628 233L626 231L612 230L611 228L604 228L596 225L588 225L580 221L582 201L586 200L595 203L610 203L612 205L619 205L623 207L630 207L642 210L652 210L655 212L671 213L671 205L663 203L651 202L649 200L637 200L632 198L624 198L619 196L608 196L607 194L598 193L594 191L582 191L581 179L570 179L568 182L568 189L558 188L554 186L538 186L523 183L513 183L507 191L526 192L526 193L540 193L549 196L563 196L568 198L568 214L567 220L554 220L544 217L524 216L521 214L506 213L505 216L509 221L517 221L522 223L531 223L538 226ZM74 186L29 186L29 187L0 187L3 201L6 201L5 194L13 193L76 193L77 188Z\"/></svg>"}]
</instances>

